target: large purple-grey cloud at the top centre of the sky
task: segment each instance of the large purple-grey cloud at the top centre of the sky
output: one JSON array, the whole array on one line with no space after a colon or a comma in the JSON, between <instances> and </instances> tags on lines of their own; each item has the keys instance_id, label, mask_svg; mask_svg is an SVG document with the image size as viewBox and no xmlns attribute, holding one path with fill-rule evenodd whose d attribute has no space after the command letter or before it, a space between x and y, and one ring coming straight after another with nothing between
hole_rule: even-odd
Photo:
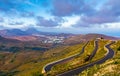
<instances>
[{"instance_id":1,"label":"large purple-grey cloud at the top centre of the sky","mask_svg":"<svg viewBox=\"0 0 120 76\"><path fill-rule=\"evenodd\" d=\"M96 10L84 0L53 0L52 14L55 16L71 16L73 14L93 15Z\"/></svg>"}]
</instances>

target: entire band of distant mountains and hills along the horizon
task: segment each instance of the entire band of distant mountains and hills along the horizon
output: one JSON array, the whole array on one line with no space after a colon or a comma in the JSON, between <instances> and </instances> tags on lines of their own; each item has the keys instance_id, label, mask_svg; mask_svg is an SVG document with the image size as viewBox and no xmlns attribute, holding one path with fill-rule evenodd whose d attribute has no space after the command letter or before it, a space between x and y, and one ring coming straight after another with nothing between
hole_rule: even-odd
<instances>
[{"instance_id":1,"label":"entire band of distant mountains and hills along the horizon","mask_svg":"<svg viewBox=\"0 0 120 76\"><path fill-rule=\"evenodd\" d=\"M15 39L19 41L43 41L51 36L57 37L65 37L64 43L71 44L71 43L80 43L83 41L88 41L91 39L96 38L104 38L110 40L117 40L118 38L112 36L106 36L103 34L85 34L85 35L75 35L75 34L66 34L66 33L49 33L49 32L41 32L34 28L29 28L25 31L20 29L7 29L7 30L0 30L0 36L3 39ZM1 41L1 40L0 40Z\"/></svg>"}]
</instances>

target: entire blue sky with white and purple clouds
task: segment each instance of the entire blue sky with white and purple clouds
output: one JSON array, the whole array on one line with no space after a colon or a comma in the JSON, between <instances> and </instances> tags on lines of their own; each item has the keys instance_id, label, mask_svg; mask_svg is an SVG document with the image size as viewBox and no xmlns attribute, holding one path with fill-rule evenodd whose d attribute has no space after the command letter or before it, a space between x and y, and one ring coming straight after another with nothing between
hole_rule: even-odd
<instances>
[{"instance_id":1,"label":"entire blue sky with white and purple clouds","mask_svg":"<svg viewBox=\"0 0 120 76\"><path fill-rule=\"evenodd\" d=\"M0 29L120 36L120 0L0 0Z\"/></svg>"}]
</instances>

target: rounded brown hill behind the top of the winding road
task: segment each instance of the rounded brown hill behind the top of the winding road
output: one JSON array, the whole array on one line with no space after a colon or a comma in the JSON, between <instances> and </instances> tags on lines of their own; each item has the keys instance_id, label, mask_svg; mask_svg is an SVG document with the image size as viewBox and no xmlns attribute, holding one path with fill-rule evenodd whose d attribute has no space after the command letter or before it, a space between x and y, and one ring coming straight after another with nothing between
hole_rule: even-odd
<instances>
[{"instance_id":1,"label":"rounded brown hill behind the top of the winding road","mask_svg":"<svg viewBox=\"0 0 120 76\"><path fill-rule=\"evenodd\" d=\"M80 43L80 42L84 42L84 41L88 41L88 40L93 40L96 38L103 38L103 39L108 39L108 40L118 40L118 38L116 38L116 37L93 33L93 34L71 36L70 38L67 38L64 41L64 43L65 44L76 44L76 43Z\"/></svg>"}]
</instances>

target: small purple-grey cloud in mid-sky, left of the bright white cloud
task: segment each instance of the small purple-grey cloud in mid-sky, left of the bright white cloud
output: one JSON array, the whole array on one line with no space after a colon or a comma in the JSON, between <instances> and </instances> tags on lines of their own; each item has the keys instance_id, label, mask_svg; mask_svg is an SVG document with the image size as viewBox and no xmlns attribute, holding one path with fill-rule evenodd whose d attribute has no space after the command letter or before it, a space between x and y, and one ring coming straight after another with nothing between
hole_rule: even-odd
<instances>
[{"instance_id":1,"label":"small purple-grey cloud in mid-sky, left of the bright white cloud","mask_svg":"<svg viewBox=\"0 0 120 76\"><path fill-rule=\"evenodd\" d=\"M43 17L38 16L37 17L37 25L44 26L44 27L55 27L58 26L60 22L63 22L64 20L55 17L54 19L44 19Z\"/></svg>"}]
</instances>

